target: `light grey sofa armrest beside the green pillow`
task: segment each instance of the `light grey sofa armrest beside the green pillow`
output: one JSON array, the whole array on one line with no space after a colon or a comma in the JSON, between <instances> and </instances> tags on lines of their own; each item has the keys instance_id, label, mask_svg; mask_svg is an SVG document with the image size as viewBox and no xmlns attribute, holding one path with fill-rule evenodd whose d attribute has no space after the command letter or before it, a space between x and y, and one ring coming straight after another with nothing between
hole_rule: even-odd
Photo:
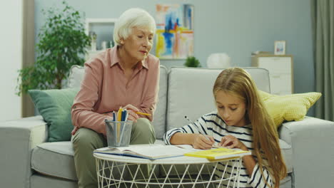
<instances>
[{"instance_id":1,"label":"light grey sofa armrest beside the green pillow","mask_svg":"<svg viewBox=\"0 0 334 188\"><path fill-rule=\"evenodd\" d=\"M0 122L0 187L30 187L31 150L46 142L47 128L40 115Z\"/></svg>"}]
</instances>

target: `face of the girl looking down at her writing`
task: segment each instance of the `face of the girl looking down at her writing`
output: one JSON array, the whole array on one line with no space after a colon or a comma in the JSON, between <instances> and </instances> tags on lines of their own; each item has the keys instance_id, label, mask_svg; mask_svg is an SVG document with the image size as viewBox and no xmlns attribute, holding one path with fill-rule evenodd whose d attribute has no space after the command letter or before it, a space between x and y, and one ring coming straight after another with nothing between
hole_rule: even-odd
<instances>
[{"instance_id":1,"label":"face of the girl looking down at her writing","mask_svg":"<svg viewBox=\"0 0 334 188\"><path fill-rule=\"evenodd\" d=\"M216 93L218 115L226 125L243 127L246 125L246 104L240 98L219 90Z\"/></svg>"}]
</instances>

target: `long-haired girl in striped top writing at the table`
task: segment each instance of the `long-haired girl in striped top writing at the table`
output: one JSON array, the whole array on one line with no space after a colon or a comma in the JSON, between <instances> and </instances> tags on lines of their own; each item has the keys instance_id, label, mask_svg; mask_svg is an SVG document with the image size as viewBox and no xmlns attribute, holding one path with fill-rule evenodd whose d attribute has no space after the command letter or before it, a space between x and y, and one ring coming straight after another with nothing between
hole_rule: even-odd
<instances>
[{"instance_id":1,"label":"long-haired girl in striped top writing at the table","mask_svg":"<svg viewBox=\"0 0 334 188\"><path fill-rule=\"evenodd\" d=\"M222 71L213 86L213 95L217 111L169 130L164 135L166 144L211 149L218 142L223 147L250 150L252 155L243 157L240 187L279 187L286 167L278 145L278 132L251 75L242 68ZM225 168L224 163L220 164L218 173ZM221 176L222 173L216 174L218 178Z\"/></svg>"}]
</instances>

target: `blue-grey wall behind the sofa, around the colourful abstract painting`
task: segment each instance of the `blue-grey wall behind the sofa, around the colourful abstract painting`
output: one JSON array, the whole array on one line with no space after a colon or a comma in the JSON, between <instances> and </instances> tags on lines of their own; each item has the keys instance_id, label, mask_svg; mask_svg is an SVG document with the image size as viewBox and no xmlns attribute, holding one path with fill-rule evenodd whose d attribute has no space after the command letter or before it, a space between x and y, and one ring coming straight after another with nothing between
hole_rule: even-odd
<instances>
[{"instance_id":1,"label":"blue-grey wall behind the sofa, around the colourful abstract painting","mask_svg":"<svg viewBox=\"0 0 334 188\"><path fill-rule=\"evenodd\" d=\"M194 55L202 66L211 53L225 52L233 66L251 66L252 51L273 51L274 41L286 41L293 55L295 93L315 90L310 1L305 0L68 0L86 18L117 18L131 7L156 15L156 4L193 4ZM59 6L59 0L35 1L35 31L44 23L41 9ZM37 38L35 37L37 40ZM155 53L155 49L151 51ZM167 67L183 61L161 61Z\"/></svg>"}]
</instances>

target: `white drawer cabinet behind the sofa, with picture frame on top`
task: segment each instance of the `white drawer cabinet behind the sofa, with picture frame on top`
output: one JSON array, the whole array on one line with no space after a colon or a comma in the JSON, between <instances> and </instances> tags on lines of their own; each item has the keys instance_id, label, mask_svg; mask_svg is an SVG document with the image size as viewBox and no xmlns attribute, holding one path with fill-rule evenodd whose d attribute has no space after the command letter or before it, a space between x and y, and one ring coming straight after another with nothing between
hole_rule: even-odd
<instances>
[{"instance_id":1,"label":"white drawer cabinet behind the sofa, with picture frame on top","mask_svg":"<svg viewBox=\"0 0 334 188\"><path fill-rule=\"evenodd\" d=\"M270 92L274 95L293 93L293 56L258 54L252 56L252 66L269 71Z\"/></svg>"}]
</instances>

